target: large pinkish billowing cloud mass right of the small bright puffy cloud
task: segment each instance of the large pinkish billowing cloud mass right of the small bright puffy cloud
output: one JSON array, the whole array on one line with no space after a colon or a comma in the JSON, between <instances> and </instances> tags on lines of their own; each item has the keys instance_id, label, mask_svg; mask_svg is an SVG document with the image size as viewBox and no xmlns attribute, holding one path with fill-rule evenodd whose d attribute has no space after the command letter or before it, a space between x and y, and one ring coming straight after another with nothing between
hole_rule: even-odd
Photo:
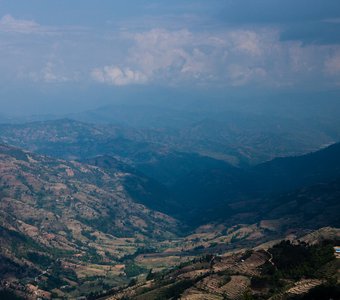
<instances>
[{"instance_id":1,"label":"large pinkish billowing cloud mass right of the small bright puffy cloud","mask_svg":"<svg viewBox=\"0 0 340 300\"><path fill-rule=\"evenodd\" d=\"M132 36L127 61L148 78L170 84L242 85L266 75L263 58L268 46L273 49L273 36L272 31L152 29Z\"/></svg>"}]
</instances>

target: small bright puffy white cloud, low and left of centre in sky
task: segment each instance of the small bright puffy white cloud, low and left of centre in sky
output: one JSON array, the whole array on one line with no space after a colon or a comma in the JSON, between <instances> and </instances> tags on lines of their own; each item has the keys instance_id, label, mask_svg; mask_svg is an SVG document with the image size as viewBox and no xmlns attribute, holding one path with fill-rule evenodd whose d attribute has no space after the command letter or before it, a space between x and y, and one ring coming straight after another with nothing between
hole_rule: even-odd
<instances>
[{"instance_id":1,"label":"small bright puffy white cloud, low and left of centre in sky","mask_svg":"<svg viewBox=\"0 0 340 300\"><path fill-rule=\"evenodd\" d=\"M117 86L144 84L147 82L147 76L143 73L131 70L130 68L121 69L116 66L95 68L92 70L91 75L98 82Z\"/></svg>"}]
</instances>

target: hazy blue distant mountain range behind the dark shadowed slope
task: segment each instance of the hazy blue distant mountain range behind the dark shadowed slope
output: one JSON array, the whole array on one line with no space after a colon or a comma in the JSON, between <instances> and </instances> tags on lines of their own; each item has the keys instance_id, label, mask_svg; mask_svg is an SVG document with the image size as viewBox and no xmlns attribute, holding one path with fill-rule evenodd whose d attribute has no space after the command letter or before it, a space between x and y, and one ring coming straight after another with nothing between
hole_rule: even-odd
<instances>
[{"instance_id":1,"label":"hazy blue distant mountain range behind the dark shadowed slope","mask_svg":"<svg viewBox=\"0 0 340 300\"><path fill-rule=\"evenodd\" d=\"M165 112L156 111L157 122L162 124ZM236 112L193 117L171 111L167 114L174 126L134 124L128 115L123 118L127 123L91 124L61 119L2 124L0 138L11 145L67 159L109 154L144 162L154 153L174 151L248 166L279 156L309 153L333 143L340 136L278 117Z\"/></svg>"}]
</instances>

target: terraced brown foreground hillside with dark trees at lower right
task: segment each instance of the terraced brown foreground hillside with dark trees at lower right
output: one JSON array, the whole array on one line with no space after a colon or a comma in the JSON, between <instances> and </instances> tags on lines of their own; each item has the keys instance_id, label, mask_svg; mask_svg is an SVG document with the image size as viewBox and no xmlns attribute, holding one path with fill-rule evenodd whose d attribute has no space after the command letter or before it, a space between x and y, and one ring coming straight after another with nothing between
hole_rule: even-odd
<instances>
[{"instance_id":1,"label":"terraced brown foreground hillside with dark trees at lower right","mask_svg":"<svg viewBox=\"0 0 340 300\"><path fill-rule=\"evenodd\" d=\"M335 232L335 236L329 233ZM313 244L290 239L225 254L206 254L171 270L149 272L102 299L339 299L339 230L313 233Z\"/></svg>"}]
</instances>

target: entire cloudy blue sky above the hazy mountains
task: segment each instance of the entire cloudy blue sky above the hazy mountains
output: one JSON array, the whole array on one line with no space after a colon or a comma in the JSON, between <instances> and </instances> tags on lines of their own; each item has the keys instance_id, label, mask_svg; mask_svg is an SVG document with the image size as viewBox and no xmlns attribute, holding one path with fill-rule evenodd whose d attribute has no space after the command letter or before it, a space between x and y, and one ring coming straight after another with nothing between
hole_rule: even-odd
<instances>
[{"instance_id":1,"label":"entire cloudy blue sky above the hazy mountains","mask_svg":"<svg viewBox=\"0 0 340 300\"><path fill-rule=\"evenodd\" d=\"M0 114L169 89L339 90L340 1L0 0Z\"/></svg>"}]
</instances>

